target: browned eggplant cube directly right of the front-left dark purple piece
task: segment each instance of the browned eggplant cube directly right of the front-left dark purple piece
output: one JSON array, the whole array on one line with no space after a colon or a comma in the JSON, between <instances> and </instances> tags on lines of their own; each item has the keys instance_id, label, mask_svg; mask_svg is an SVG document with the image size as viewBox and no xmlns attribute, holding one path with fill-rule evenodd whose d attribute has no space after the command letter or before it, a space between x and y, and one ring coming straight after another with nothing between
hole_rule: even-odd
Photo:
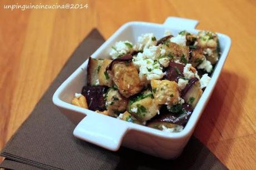
<instances>
[{"instance_id":1,"label":"browned eggplant cube directly right of the front-left dark purple piece","mask_svg":"<svg viewBox=\"0 0 256 170\"><path fill-rule=\"evenodd\" d=\"M105 94L106 108L111 116L126 111L128 99L123 97L117 89L110 88Z\"/></svg>"}]
</instances>

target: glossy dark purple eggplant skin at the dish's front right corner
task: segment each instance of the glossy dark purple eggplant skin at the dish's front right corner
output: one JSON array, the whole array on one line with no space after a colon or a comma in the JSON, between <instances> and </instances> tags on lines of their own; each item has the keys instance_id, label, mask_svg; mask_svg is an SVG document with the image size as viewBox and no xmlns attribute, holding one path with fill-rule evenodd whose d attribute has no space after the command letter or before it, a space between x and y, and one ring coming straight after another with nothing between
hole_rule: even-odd
<instances>
[{"instance_id":1,"label":"glossy dark purple eggplant skin at the dish's front right corner","mask_svg":"<svg viewBox=\"0 0 256 170\"><path fill-rule=\"evenodd\" d=\"M168 111L166 107L163 107L160 111L160 114L152 118L150 121L147 121L146 126L154 126L154 124L160 123L173 123L179 124L181 126L185 126L185 124L189 121L189 118L193 112L193 108L190 104L182 104L181 113L172 113Z\"/></svg>"}]
</instances>

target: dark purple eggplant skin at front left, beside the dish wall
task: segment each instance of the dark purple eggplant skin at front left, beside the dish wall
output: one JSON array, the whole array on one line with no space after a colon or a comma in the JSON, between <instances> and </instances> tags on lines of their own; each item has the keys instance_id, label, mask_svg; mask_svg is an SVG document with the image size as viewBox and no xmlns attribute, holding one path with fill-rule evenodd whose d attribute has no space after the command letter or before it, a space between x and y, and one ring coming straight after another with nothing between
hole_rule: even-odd
<instances>
[{"instance_id":1,"label":"dark purple eggplant skin at front left, beside the dish wall","mask_svg":"<svg viewBox=\"0 0 256 170\"><path fill-rule=\"evenodd\" d=\"M107 86L84 86L82 94L86 97L88 107L91 111L105 111L104 94L107 92Z\"/></svg>"}]
</instances>

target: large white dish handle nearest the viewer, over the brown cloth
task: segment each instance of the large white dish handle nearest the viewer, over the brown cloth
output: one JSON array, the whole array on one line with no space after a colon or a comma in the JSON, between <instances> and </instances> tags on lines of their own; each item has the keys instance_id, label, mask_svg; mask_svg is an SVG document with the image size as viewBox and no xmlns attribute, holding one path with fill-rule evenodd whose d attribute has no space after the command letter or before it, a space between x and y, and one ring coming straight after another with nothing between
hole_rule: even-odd
<instances>
[{"instance_id":1,"label":"large white dish handle nearest the viewer, over the brown cloth","mask_svg":"<svg viewBox=\"0 0 256 170\"><path fill-rule=\"evenodd\" d=\"M78 123L73 131L73 135L97 146L117 151L128 129L125 122L119 121L102 114L87 114Z\"/></svg>"}]
</instances>

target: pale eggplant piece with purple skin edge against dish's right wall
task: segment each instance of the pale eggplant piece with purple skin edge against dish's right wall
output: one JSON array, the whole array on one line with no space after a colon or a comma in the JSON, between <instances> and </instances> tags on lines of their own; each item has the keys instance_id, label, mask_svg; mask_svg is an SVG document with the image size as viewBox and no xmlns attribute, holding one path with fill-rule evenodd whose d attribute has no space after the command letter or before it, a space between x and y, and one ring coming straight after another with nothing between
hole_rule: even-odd
<instances>
[{"instance_id":1,"label":"pale eggplant piece with purple skin edge against dish's right wall","mask_svg":"<svg viewBox=\"0 0 256 170\"><path fill-rule=\"evenodd\" d=\"M181 92L182 97L186 103L191 104L192 108L195 108L196 103L198 103L203 91L200 88L200 82L197 78L192 78L189 83Z\"/></svg>"}]
</instances>

